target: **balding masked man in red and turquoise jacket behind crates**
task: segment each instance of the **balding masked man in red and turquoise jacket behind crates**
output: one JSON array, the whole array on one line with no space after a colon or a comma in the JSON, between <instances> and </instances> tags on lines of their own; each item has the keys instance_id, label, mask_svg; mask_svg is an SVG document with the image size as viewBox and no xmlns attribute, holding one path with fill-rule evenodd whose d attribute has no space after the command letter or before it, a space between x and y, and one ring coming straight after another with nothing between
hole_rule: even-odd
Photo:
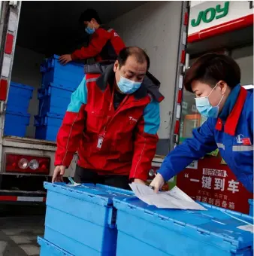
<instances>
[{"instance_id":1,"label":"balding masked man in red and turquoise jacket behind crates","mask_svg":"<svg viewBox=\"0 0 254 256\"><path fill-rule=\"evenodd\" d=\"M156 154L159 81L138 47L123 49L111 65L85 66L57 137L54 181L62 181L77 151L77 183L129 188L143 183Z\"/></svg>"}]
</instances>

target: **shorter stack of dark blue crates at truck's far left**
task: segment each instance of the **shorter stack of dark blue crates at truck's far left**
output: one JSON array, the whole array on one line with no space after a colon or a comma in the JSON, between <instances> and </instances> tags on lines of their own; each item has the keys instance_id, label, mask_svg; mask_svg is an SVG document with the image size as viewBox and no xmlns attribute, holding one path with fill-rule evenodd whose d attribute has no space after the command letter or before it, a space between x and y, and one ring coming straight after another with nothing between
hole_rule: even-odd
<instances>
[{"instance_id":1,"label":"shorter stack of dark blue crates at truck's far left","mask_svg":"<svg viewBox=\"0 0 254 256\"><path fill-rule=\"evenodd\" d=\"M29 126L29 102L32 99L33 87L11 82L5 114L5 136L26 136Z\"/></svg>"}]
</instances>

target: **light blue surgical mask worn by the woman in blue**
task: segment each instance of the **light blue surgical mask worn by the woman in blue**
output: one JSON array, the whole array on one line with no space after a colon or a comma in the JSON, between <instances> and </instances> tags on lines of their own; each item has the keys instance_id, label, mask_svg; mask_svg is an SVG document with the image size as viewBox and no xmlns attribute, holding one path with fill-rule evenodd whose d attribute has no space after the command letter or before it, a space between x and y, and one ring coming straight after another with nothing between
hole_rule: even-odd
<instances>
[{"instance_id":1,"label":"light blue surgical mask worn by the woman in blue","mask_svg":"<svg viewBox=\"0 0 254 256\"><path fill-rule=\"evenodd\" d=\"M216 84L213 90L215 90L217 85L218 84ZM210 102L209 102L209 96L211 95L211 93L213 93L213 90L206 97L195 98L198 112L204 117L217 118L219 115L219 104L220 102L222 102L224 95L222 95L222 98L219 100L218 105L213 107L212 105L210 105Z\"/></svg>"}]
</instances>

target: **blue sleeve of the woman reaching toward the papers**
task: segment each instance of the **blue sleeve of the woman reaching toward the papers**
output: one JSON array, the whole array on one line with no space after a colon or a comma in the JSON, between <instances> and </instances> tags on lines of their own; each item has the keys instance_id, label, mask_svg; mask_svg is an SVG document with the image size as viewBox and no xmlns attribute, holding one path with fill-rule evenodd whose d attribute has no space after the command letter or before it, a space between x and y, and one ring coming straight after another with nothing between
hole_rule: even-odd
<instances>
[{"instance_id":1,"label":"blue sleeve of the woman reaching toward the papers","mask_svg":"<svg viewBox=\"0 0 254 256\"><path fill-rule=\"evenodd\" d=\"M159 173L165 181L177 175L194 160L217 148L214 139L215 124L208 119L201 127L193 131L192 139L187 139L171 151L162 163Z\"/></svg>"}]
</instances>

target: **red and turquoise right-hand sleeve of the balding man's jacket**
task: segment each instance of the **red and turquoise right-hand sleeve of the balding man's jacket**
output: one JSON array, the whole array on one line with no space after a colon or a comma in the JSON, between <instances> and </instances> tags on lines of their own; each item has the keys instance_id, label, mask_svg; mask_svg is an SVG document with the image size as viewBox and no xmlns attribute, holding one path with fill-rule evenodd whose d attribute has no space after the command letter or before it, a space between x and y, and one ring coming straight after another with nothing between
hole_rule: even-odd
<instances>
[{"instance_id":1,"label":"red and turquoise right-hand sleeve of the balding man's jacket","mask_svg":"<svg viewBox=\"0 0 254 256\"><path fill-rule=\"evenodd\" d=\"M147 180L153 157L156 154L159 123L159 103L153 101L144 109L143 118L137 124L130 178Z\"/></svg>"}]
</instances>

